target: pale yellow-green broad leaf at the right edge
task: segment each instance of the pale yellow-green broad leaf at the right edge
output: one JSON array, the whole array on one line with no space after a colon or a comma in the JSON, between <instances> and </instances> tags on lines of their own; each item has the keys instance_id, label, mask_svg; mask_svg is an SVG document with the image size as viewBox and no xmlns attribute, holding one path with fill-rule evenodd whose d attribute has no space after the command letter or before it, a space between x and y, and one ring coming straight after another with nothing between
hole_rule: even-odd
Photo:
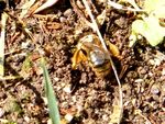
<instances>
[{"instance_id":1,"label":"pale yellow-green broad leaf at the right edge","mask_svg":"<svg viewBox=\"0 0 165 124\"><path fill-rule=\"evenodd\" d=\"M165 36L165 27L160 25L155 16L136 20L132 23L132 33L144 36L152 46L160 44Z\"/></svg>"}]
</instances>

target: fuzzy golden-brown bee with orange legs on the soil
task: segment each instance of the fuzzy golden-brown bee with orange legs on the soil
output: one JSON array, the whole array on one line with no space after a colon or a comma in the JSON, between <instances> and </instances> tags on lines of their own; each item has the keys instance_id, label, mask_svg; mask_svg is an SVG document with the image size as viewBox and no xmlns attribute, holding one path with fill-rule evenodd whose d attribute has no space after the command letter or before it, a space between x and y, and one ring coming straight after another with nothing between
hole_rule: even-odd
<instances>
[{"instance_id":1,"label":"fuzzy golden-brown bee with orange legs on the soil","mask_svg":"<svg viewBox=\"0 0 165 124\"><path fill-rule=\"evenodd\" d=\"M97 77L106 77L111 71L109 55L120 58L119 49L116 45L107 42L109 52L102 47L99 37L95 34L85 35L79 40L77 48L72 58L73 69L77 68L79 63L88 63Z\"/></svg>"}]
</instances>

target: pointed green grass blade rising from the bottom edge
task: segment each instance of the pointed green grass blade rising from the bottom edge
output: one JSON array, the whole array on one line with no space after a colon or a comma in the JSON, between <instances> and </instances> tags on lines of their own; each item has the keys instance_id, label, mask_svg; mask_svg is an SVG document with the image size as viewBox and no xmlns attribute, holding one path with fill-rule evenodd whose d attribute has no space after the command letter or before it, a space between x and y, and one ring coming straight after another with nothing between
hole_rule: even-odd
<instances>
[{"instance_id":1,"label":"pointed green grass blade rising from the bottom edge","mask_svg":"<svg viewBox=\"0 0 165 124\"><path fill-rule=\"evenodd\" d=\"M55 98L55 94L53 91L48 71L44 64L44 58L42 58L41 65L43 68L44 87L45 87L45 93L46 93L46 98L47 98L47 102L48 102L50 116L52 119L53 124L61 124L57 101L56 101L56 98Z\"/></svg>"}]
</instances>

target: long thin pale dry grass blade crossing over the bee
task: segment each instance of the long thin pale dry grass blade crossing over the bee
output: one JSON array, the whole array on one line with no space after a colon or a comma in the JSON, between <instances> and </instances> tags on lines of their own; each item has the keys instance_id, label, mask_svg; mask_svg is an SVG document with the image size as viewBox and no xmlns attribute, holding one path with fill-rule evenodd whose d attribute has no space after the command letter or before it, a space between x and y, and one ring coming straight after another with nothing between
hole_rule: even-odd
<instances>
[{"instance_id":1,"label":"long thin pale dry grass blade crossing over the bee","mask_svg":"<svg viewBox=\"0 0 165 124\"><path fill-rule=\"evenodd\" d=\"M98 24L97 24L97 22L96 22L94 15L92 15L92 13L91 13L91 10L90 10L90 8L89 8L87 1L86 1L86 0L82 0L82 2L84 2L84 4L85 4L85 7L86 7L86 9L87 9L87 12L88 12L88 14L89 14L89 16L90 16L90 19L91 19L92 24L94 24L94 26L91 26L92 30L97 32L97 34L98 34L98 36L99 36L99 38L100 38L100 42L101 42L101 44L102 44L102 47L105 48L106 52L108 52L108 48L107 48L107 46L106 46L106 42L105 42L105 40L103 40L103 37L102 37L100 31L99 31ZM109 55L109 59L110 59L110 63L111 63L111 65L112 65L113 72L114 72L114 76L116 76L117 81L118 81L118 84L119 84L119 108L120 108L120 110L118 109L118 120L117 120L116 123L120 124L120 122L121 122L121 120L122 120L122 114L123 114L122 88L121 88L121 82L120 82L120 79L119 79L117 69L116 69L116 67L114 67L114 64L113 64L113 61L112 61L110 55ZM114 109L113 109L113 113L116 113L116 110L117 110L117 109L114 108ZM111 122L110 122L110 123L111 123Z\"/></svg>"}]
</instances>

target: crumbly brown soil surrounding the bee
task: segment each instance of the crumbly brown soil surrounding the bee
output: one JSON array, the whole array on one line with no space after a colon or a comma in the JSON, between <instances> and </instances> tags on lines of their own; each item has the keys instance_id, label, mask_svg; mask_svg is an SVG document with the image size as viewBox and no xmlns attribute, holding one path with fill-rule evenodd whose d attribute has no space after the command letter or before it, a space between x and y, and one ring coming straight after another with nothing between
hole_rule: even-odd
<instances>
[{"instance_id":1,"label":"crumbly brown soil surrounding the bee","mask_svg":"<svg viewBox=\"0 0 165 124\"><path fill-rule=\"evenodd\" d=\"M16 124L46 124L41 55L46 59L61 119L69 124L108 124L119 87L113 75L100 78L86 64L72 68L72 57L81 36L95 34L74 11L69 1L58 1L40 14L21 19L21 8L28 1L16 1L9 9L14 18L7 22L6 76L22 78L0 81L0 121ZM42 2L37 2L42 4ZM105 4L94 1L99 15ZM84 10L82 10L84 12ZM86 13L85 13L86 14ZM19 22L21 19L22 24ZM87 16L87 20L90 20ZM131 24L135 13L109 8L100 32L114 44L122 59L113 59L118 74L127 67L123 90L123 124L165 124L165 48L151 47L145 38L129 47ZM16 24L15 24L16 21ZM89 21L90 22L90 21ZM25 32L30 31L33 41Z\"/></svg>"}]
</instances>

